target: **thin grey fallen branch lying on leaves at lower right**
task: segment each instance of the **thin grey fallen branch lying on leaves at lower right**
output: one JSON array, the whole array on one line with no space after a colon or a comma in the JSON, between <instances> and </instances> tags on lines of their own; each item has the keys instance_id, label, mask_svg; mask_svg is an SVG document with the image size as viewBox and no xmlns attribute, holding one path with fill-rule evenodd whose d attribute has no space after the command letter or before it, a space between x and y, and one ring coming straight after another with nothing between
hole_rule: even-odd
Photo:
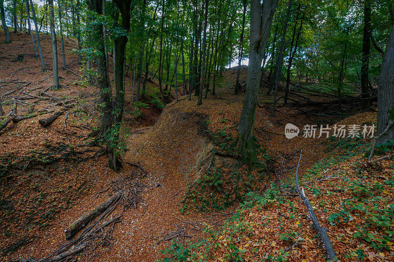
<instances>
[{"instance_id":1,"label":"thin grey fallen branch lying on leaves at lower right","mask_svg":"<svg viewBox=\"0 0 394 262\"><path fill-rule=\"evenodd\" d=\"M298 167L299 167L299 162L301 161L301 157L302 157L302 150L301 150L301 153L299 155L297 169L296 169L296 190L297 190L300 198L304 202L304 204L306 206L306 209L308 210L309 217L310 217L310 219L311 219L311 221L313 223L313 227L317 230L317 232L320 235L320 238L323 241L323 247L326 249L326 253L327 253L327 260L334 260L336 255L335 255L334 250L332 249L331 242L329 241L329 238L328 238L328 235L327 235L327 228L320 226L320 223L317 220L315 212L313 211L312 205L309 202L309 199L305 196L304 189L303 188L302 188L302 190L299 189L299 185L298 185Z\"/></svg>"}]
</instances>

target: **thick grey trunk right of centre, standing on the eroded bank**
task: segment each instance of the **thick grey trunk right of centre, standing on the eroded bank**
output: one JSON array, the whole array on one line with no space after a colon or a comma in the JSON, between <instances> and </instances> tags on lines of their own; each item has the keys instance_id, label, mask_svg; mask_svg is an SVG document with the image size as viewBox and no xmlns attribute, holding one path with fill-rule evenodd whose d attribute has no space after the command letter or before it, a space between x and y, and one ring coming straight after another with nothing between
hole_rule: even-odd
<instances>
[{"instance_id":1,"label":"thick grey trunk right of centre, standing on the eroded bank","mask_svg":"<svg viewBox=\"0 0 394 262\"><path fill-rule=\"evenodd\" d=\"M278 0L264 0L262 8L260 0L251 0L248 79L239 119L237 144L238 153L252 162L254 157L248 151L253 147L253 129L261 76L260 67L277 4Z\"/></svg>"}]
</instances>

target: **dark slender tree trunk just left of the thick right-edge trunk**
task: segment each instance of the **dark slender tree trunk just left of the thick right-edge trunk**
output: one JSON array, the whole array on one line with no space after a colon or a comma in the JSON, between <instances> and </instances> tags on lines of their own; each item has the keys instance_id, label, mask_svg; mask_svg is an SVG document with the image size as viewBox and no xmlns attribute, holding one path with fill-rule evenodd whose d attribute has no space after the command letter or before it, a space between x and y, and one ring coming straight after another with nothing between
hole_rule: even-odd
<instances>
[{"instance_id":1,"label":"dark slender tree trunk just left of the thick right-edge trunk","mask_svg":"<svg viewBox=\"0 0 394 262\"><path fill-rule=\"evenodd\" d=\"M361 99L362 110L371 106L368 89L368 70L370 54L370 25L371 25L371 0L364 1L364 32L362 36L362 58L361 58Z\"/></svg>"}]
</instances>

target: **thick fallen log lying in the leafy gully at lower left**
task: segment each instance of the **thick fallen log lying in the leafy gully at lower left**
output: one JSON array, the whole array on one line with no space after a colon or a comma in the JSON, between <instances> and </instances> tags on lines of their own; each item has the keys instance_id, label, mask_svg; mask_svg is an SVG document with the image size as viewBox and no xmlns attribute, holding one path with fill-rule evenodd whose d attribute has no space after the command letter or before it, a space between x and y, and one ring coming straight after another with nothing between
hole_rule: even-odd
<instances>
[{"instance_id":1,"label":"thick fallen log lying in the leafy gully at lower left","mask_svg":"<svg viewBox=\"0 0 394 262\"><path fill-rule=\"evenodd\" d=\"M70 240L76 233L78 233L85 225L88 225L90 221L99 216L102 212L107 210L114 202L122 197L121 192L117 192L107 201L99 204L92 211L89 211L80 216L74 223L72 223L66 230L66 240Z\"/></svg>"}]
</instances>

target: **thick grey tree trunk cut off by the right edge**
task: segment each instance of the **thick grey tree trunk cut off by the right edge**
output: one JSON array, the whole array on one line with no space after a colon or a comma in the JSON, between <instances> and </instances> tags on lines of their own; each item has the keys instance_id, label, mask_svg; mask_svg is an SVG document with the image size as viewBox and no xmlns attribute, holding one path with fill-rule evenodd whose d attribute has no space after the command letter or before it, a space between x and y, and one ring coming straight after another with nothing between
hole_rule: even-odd
<instances>
[{"instance_id":1,"label":"thick grey tree trunk cut off by the right edge","mask_svg":"<svg viewBox=\"0 0 394 262\"><path fill-rule=\"evenodd\" d=\"M394 120L394 26L391 29L386 52L383 57L378 88L378 126L377 134L386 129L390 120ZM387 134L381 136L377 144L394 140L394 125Z\"/></svg>"}]
</instances>

